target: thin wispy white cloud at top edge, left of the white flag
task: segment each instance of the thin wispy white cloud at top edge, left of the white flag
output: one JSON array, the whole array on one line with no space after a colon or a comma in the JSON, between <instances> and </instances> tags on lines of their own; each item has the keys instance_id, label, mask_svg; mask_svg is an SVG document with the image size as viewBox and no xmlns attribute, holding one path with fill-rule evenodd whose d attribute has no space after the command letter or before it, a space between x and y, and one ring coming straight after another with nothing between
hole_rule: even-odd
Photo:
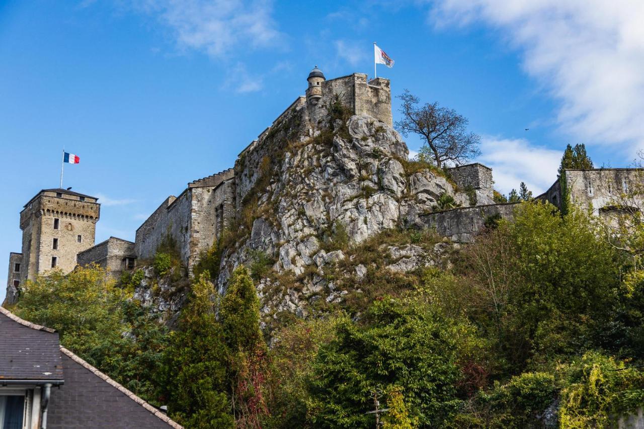
<instances>
[{"instance_id":1,"label":"thin wispy white cloud at top edge, left of the white flag","mask_svg":"<svg viewBox=\"0 0 644 429\"><path fill-rule=\"evenodd\" d=\"M180 48L213 57L243 46L276 46L283 41L269 0L133 0L138 12L169 26Z\"/></svg>"}]
</instances>

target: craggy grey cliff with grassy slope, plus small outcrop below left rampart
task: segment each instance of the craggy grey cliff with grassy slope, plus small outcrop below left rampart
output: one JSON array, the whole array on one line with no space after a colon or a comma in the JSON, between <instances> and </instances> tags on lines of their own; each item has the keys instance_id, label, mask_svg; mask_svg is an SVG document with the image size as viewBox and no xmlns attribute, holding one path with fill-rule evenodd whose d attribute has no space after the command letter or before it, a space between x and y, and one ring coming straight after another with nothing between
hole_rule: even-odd
<instances>
[{"instance_id":1,"label":"craggy grey cliff with grassy slope, plus small outcrop below left rampart","mask_svg":"<svg viewBox=\"0 0 644 429\"><path fill-rule=\"evenodd\" d=\"M455 247L423 230L419 216L471 203L443 171L408 160L384 122L330 111L316 128L285 120L240 157L237 219L203 255L201 269L216 272L222 294L234 267L251 269L269 325L409 287L404 273L447 264ZM137 298L176 315L185 283L145 273Z\"/></svg>"}]
</instances>

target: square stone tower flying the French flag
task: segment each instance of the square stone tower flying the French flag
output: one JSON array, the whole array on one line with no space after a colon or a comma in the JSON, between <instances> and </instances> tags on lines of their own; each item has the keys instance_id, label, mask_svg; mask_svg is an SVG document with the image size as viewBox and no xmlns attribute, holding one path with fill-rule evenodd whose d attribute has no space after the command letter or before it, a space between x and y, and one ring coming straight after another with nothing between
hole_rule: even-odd
<instances>
[{"instance_id":1,"label":"square stone tower flying the French flag","mask_svg":"<svg viewBox=\"0 0 644 429\"><path fill-rule=\"evenodd\" d=\"M23 253L10 255L6 303L17 299L19 284L52 268L67 273L76 255L94 245L98 198L68 189L43 189L20 212Z\"/></svg>"}]
</instances>

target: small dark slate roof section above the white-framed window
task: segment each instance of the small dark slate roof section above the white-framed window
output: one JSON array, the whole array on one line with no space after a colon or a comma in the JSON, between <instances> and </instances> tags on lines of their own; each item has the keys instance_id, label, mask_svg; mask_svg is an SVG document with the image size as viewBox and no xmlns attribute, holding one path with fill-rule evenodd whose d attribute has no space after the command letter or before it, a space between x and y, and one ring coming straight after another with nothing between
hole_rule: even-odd
<instances>
[{"instance_id":1,"label":"small dark slate roof section above the white-framed window","mask_svg":"<svg viewBox=\"0 0 644 429\"><path fill-rule=\"evenodd\" d=\"M63 381L58 333L0 307L0 384Z\"/></svg>"}]
</instances>

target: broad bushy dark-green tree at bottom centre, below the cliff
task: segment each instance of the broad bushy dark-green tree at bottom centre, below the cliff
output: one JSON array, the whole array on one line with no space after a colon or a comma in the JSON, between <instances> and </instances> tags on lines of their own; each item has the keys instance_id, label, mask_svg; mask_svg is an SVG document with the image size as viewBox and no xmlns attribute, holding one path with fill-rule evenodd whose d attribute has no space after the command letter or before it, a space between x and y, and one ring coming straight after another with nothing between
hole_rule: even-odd
<instances>
[{"instance_id":1,"label":"broad bushy dark-green tree at bottom centre, below the cliff","mask_svg":"<svg viewBox=\"0 0 644 429\"><path fill-rule=\"evenodd\" d=\"M338 324L336 338L320 348L310 381L310 420L321 427L370 428L372 390L398 391L408 418L440 427L457 398L455 330L428 307L385 297L360 323Z\"/></svg>"}]
</instances>

